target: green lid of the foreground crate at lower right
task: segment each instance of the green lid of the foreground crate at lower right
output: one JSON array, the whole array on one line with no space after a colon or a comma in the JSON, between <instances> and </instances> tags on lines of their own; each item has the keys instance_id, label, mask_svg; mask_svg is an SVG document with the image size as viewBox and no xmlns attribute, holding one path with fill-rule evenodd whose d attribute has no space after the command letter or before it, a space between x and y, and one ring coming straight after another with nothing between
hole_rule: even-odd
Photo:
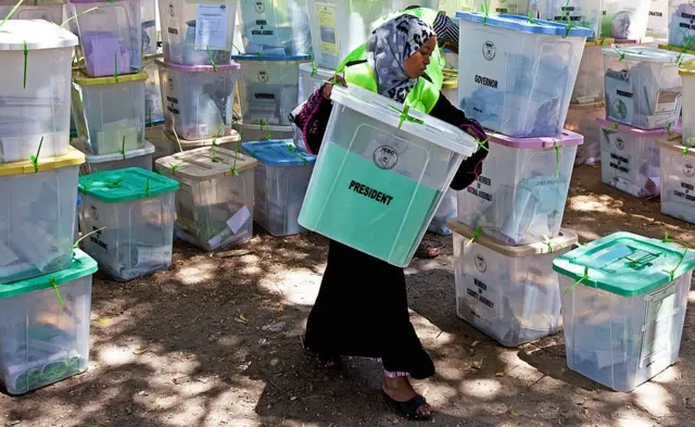
<instances>
[{"instance_id":1,"label":"green lid of the foreground crate at lower right","mask_svg":"<svg viewBox=\"0 0 695 427\"><path fill-rule=\"evenodd\" d=\"M622 297L649 293L693 268L695 252L631 233L615 233L553 261L559 274Z\"/></svg>"}]
</instances>

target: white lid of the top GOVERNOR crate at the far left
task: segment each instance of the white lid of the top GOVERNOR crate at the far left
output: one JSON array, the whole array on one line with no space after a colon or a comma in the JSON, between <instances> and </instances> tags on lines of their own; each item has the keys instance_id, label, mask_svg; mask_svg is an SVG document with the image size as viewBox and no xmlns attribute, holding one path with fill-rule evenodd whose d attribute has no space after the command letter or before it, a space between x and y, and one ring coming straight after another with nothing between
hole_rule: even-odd
<instances>
[{"instance_id":1,"label":"white lid of the top GOVERNOR crate at the far left","mask_svg":"<svg viewBox=\"0 0 695 427\"><path fill-rule=\"evenodd\" d=\"M0 50L72 48L77 36L43 20L8 20L0 27Z\"/></svg>"}]
</instances>

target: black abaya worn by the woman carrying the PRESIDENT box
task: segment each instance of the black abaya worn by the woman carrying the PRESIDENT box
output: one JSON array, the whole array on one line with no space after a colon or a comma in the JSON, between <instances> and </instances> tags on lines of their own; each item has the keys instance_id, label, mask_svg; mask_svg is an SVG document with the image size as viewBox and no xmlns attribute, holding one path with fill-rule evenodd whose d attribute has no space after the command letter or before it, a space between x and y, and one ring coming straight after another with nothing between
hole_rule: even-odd
<instances>
[{"instance_id":1,"label":"black abaya worn by the woman carrying the PRESIDENT box","mask_svg":"<svg viewBox=\"0 0 695 427\"><path fill-rule=\"evenodd\" d=\"M454 126L479 126L443 96L430 114ZM451 187L468 187L485 155L486 150L480 149L464 161ZM330 241L304 343L324 356L381 357L386 371L408 373L415 379L434 375L434 364L409 319L403 268L336 241Z\"/></svg>"}]
</instances>

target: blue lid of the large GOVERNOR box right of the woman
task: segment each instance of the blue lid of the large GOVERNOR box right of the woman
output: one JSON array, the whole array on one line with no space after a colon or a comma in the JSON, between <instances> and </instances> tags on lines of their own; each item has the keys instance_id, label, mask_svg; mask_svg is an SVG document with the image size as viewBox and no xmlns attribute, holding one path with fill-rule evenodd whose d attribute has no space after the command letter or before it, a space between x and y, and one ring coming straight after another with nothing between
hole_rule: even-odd
<instances>
[{"instance_id":1,"label":"blue lid of the large GOVERNOR box right of the woman","mask_svg":"<svg viewBox=\"0 0 695 427\"><path fill-rule=\"evenodd\" d=\"M482 24L484 20L485 25L491 27L507 28L528 34L543 34L546 36L563 37L592 37L594 35L594 30L591 28L570 27L568 32L567 24L544 20L533 20L533 22L531 22L527 16L511 15L507 13L494 14L485 17L485 15L480 12L456 12L456 17L480 24Z\"/></svg>"}]
</instances>

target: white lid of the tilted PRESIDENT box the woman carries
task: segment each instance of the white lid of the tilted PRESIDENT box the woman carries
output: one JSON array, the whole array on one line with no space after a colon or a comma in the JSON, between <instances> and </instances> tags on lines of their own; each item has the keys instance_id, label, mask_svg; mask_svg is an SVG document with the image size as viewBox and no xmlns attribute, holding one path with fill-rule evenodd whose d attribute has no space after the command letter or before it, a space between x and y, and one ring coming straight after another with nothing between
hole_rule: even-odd
<instances>
[{"instance_id":1,"label":"white lid of the tilted PRESIDENT box the woman carries","mask_svg":"<svg viewBox=\"0 0 695 427\"><path fill-rule=\"evenodd\" d=\"M401 125L403 104L381 95L351 85L348 88L333 86L330 99L361 114L386 123L394 129ZM421 123L403 121L401 130L459 154L471 155L478 149L476 139L462 129L427 113L410 109L408 115Z\"/></svg>"}]
</instances>

